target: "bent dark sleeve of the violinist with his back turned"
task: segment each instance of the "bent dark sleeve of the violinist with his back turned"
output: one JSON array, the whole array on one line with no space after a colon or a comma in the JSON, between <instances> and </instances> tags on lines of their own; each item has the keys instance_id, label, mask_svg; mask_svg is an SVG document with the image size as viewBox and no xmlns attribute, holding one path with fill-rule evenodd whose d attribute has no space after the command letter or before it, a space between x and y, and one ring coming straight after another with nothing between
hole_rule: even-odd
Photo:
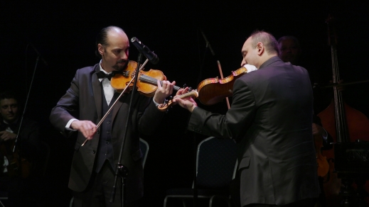
<instances>
[{"instance_id":1,"label":"bent dark sleeve of the violinist with his back turned","mask_svg":"<svg viewBox=\"0 0 369 207\"><path fill-rule=\"evenodd\" d=\"M255 118L255 96L246 82L240 79L235 81L233 91L232 106L225 115L196 107L188 123L188 130L217 138L243 138Z\"/></svg>"}]
</instances>

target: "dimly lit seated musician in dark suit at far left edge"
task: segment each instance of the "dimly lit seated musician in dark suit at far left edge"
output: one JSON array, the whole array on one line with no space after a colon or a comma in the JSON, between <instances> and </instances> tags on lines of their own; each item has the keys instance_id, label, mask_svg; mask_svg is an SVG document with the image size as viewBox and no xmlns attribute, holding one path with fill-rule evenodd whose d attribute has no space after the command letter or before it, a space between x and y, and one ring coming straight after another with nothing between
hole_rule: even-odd
<instances>
[{"instance_id":1,"label":"dimly lit seated musician in dark suit at far left edge","mask_svg":"<svg viewBox=\"0 0 369 207\"><path fill-rule=\"evenodd\" d=\"M8 193L6 206L31 206L34 167L43 150L38 123L23 118L20 128L21 106L10 91L0 93L0 113L0 191Z\"/></svg>"}]
</instances>

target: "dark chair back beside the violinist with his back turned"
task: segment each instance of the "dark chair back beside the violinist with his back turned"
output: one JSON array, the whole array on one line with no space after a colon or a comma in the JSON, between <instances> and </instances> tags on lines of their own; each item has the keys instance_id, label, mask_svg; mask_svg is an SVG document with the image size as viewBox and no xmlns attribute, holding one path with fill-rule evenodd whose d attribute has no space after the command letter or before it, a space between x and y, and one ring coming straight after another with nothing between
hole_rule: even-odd
<instances>
[{"instance_id":1,"label":"dark chair back beside the violinist with his back turned","mask_svg":"<svg viewBox=\"0 0 369 207\"><path fill-rule=\"evenodd\" d=\"M202 189L228 189L237 165L236 143L230 139L206 138L198 144L196 184Z\"/></svg>"}]
</instances>

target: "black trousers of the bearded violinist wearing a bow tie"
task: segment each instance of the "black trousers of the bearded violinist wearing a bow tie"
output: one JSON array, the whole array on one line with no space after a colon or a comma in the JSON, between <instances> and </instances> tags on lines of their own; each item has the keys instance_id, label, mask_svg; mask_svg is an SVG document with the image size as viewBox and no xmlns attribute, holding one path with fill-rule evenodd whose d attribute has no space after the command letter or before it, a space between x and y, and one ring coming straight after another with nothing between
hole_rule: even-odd
<instances>
[{"instance_id":1,"label":"black trousers of the bearded violinist wearing a bow tie","mask_svg":"<svg viewBox=\"0 0 369 207\"><path fill-rule=\"evenodd\" d=\"M73 192L74 206L76 207L121 207L122 206L122 179L117 180L114 203L110 203L112 186L114 185L114 170L105 160L99 173L92 172L90 184L86 191ZM124 207L139 206L139 201L124 203Z\"/></svg>"}]
</instances>

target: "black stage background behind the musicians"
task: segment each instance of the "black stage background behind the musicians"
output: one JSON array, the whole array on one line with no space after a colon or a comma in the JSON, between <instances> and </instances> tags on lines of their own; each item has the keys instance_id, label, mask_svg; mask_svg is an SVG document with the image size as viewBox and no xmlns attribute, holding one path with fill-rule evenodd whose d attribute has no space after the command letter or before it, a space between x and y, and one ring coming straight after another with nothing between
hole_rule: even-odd
<instances>
[{"instance_id":1,"label":"black stage background behind the musicians","mask_svg":"<svg viewBox=\"0 0 369 207\"><path fill-rule=\"evenodd\" d=\"M277 39L295 35L301 41L307 69L331 78L331 49L327 43L328 14L336 18L338 62L341 79L369 79L369 1L1 1L0 86L15 89L24 99L31 83L36 52L48 66L38 62L26 116L41 123L43 140L52 151L46 174L45 206L68 206L73 138L63 138L48 122L51 108L65 93L75 70L95 65L95 35L105 26L122 27L129 38L137 37L160 58L159 69L178 86L196 88L203 79L224 76L240 68L241 47L255 29ZM205 46L203 30L215 57ZM137 59L131 47L129 57ZM347 104L369 116L369 85L355 84L343 91ZM203 106L203 105L200 105ZM225 101L205 108L225 113ZM164 192L193 181L194 138L186 133L188 113L173 108L163 127L152 138L145 167L145 206L161 206ZM202 140L198 135L196 142Z\"/></svg>"}]
</instances>

